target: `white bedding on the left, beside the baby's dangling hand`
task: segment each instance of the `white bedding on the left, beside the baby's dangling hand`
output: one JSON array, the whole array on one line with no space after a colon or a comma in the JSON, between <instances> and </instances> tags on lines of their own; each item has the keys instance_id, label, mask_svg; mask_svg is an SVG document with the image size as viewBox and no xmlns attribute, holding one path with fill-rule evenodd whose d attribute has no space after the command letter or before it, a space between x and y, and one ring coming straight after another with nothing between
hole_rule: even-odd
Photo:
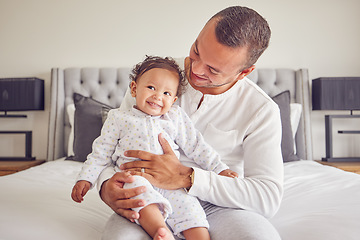
<instances>
[{"instance_id":1,"label":"white bedding on the left, beside the baby's dangling hand","mask_svg":"<svg viewBox=\"0 0 360 240\"><path fill-rule=\"evenodd\" d=\"M96 190L81 204L71 200L81 166L57 160L0 177L0 239L100 239L112 210Z\"/></svg>"}]
</instances>

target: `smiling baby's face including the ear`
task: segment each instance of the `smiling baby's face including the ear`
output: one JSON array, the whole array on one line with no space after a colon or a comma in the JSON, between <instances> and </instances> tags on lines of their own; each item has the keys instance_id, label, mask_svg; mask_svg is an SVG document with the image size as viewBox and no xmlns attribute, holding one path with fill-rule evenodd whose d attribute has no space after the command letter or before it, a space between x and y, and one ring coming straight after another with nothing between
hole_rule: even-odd
<instances>
[{"instance_id":1,"label":"smiling baby's face including the ear","mask_svg":"<svg viewBox=\"0 0 360 240\"><path fill-rule=\"evenodd\" d=\"M153 68L131 82L131 95L136 97L136 107L152 116L167 113L177 100L179 76L172 71Z\"/></svg>"}]
</instances>

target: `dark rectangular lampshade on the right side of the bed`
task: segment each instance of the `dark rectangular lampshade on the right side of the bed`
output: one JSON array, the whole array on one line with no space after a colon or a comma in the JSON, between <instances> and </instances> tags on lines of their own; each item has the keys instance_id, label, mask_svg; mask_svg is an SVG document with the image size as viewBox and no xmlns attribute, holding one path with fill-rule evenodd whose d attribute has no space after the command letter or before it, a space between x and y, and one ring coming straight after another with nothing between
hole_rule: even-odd
<instances>
[{"instance_id":1,"label":"dark rectangular lampshade on the right side of the bed","mask_svg":"<svg viewBox=\"0 0 360 240\"><path fill-rule=\"evenodd\" d=\"M360 77L321 77L312 81L313 110L360 110Z\"/></svg>"}]
</instances>

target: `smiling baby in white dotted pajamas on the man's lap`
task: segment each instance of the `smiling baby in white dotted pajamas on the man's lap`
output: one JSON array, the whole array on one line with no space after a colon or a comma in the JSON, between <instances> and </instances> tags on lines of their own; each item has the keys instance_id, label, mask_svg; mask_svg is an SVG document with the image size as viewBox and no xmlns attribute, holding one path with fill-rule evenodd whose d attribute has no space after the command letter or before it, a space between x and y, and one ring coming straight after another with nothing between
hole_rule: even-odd
<instances>
[{"instance_id":1,"label":"smiling baby in white dotted pajamas on the man's lap","mask_svg":"<svg viewBox=\"0 0 360 240\"><path fill-rule=\"evenodd\" d=\"M93 151L73 187L71 196L74 201L83 200L101 171L112 162L116 170L121 171L121 164L135 160L124 156L125 151L163 154L159 134L169 142L178 158L178 149L181 148L203 169L227 177L238 176L221 162L220 156L204 141L187 114L173 105L186 81L173 59L147 56L132 73L130 88L136 105L129 111L109 111L101 134L93 143ZM146 186L146 192L135 198L144 199L147 205L133 210L140 214L136 222L153 239L174 239L166 223L180 238L210 239L206 215L195 197L184 189L159 189L142 176L133 177L135 181L126 183L124 188Z\"/></svg>"}]
</instances>

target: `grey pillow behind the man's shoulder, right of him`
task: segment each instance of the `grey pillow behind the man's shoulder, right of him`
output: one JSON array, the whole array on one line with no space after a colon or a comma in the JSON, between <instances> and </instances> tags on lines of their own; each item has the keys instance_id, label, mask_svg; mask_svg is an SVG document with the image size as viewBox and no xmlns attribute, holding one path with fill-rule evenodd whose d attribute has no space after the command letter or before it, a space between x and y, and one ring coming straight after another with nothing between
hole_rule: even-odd
<instances>
[{"instance_id":1,"label":"grey pillow behind the man's shoulder, right of him","mask_svg":"<svg viewBox=\"0 0 360 240\"><path fill-rule=\"evenodd\" d=\"M294 153L294 139L290 121L290 91L284 91L272 98L280 108L282 139L281 153L284 162L300 160Z\"/></svg>"}]
</instances>

